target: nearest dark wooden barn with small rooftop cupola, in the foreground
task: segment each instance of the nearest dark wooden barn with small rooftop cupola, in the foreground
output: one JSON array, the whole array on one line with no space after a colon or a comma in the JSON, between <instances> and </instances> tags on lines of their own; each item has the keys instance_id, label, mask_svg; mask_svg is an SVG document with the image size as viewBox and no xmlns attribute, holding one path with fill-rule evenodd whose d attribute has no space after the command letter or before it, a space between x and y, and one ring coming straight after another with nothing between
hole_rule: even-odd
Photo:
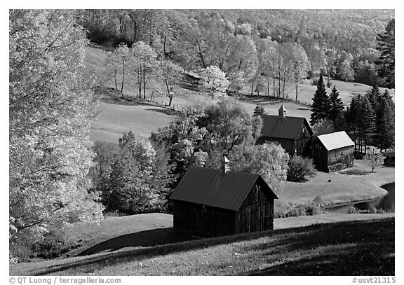
<instances>
[{"instance_id":1,"label":"nearest dark wooden barn with small rooftop cupola, in the foreground","mask_svg":"<svg viewBox=\"0 0 404 285\"><path fill-rule=\"evenodd\" d=\"M274 229L274 199L258 174L229 170L229 160L213 169L192 166L169 199L174 228L195 235L220 236Z\"/></svg>"}]
</instances>

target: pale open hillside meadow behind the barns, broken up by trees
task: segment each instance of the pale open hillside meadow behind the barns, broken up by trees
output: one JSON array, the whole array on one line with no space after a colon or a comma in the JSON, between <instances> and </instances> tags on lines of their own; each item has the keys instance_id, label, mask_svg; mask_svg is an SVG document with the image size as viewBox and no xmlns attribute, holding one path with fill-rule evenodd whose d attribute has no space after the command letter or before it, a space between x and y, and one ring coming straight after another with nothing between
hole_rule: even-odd
<instances>
[{"instance_id":1,"label":"pale open hillside meadow behind the barns, broken up by trees","mask_svg":"<svg viewBox=\"0 0 404 285\"><path fill-rule=\"evenodd\" d=\"M104 87L113 88L114 85L111 77L106 76L106 50L97 46L88 46L86 48L85 67L88 74L95 74L98 81ZM356 94L364 94L371 87L365 84L346 83L344 81L332 80L332 85L336 85L339 90L339 96L344 104L349 104L351 97ZM124 93L126 96L136 96L136 87L133 81L128 78L125 85ZM311 85L311 81L307 80L300 87L298 98L302 102L311 103L316 86ZM384 88L380 88L384 92ZM328 90L330 92L330 90ZM394 94L394 90L389 90ZM294 98L294 89L292 86L286 90L289 97ZM147 94L149 96L149 93ZM154 98L156 102L168 104L168 97ZM173 104L176 109L192 104L209 104L212 99L201 92L187 91L182 97L175 97ZM278 108L281 106L280 100L268 100L266 96L245 97L240 99L241 105L253 113L256 104L263 104L267 114L277 114ZM309 120L311 111L308 106L295 104L294 102L283 102L289 116L301 116ZM166 127L174 114L156 106L133 105L126 106L121 104L111 104L111 102L101 102L98 110L100 115L91 123L91 137L95 141L116 142L123 132L132 130L136 137L147 139L152 131L158 130L160 127Z\"/></svg>"}]
</instances>

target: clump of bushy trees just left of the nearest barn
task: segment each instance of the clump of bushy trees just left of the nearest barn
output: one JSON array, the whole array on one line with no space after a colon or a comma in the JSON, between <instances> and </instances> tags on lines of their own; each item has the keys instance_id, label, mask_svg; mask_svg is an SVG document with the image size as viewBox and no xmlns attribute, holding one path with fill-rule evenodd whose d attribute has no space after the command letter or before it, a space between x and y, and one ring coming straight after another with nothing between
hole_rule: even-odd
<instances>
[{"instance_id":1,"label":"clump of bushy trees just left of the nearest barn","mask_svg":"<svg viewBox=\"0 0 404 285\"><path fill-rule=\"evenodd\" d=\"M97 143L93 181L107 211L141 214L162 211L173 183L164 148L123 133L119 144Z\"/></svg>"}]
</instances>

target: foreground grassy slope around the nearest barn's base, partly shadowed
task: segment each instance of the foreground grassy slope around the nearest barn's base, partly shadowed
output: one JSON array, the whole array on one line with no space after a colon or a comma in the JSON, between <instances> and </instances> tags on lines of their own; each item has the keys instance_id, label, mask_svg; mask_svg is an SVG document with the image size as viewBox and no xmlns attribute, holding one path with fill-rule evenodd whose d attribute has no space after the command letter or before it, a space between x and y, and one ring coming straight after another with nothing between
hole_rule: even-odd
<instances>
[{"instance_id":1,"label":"foreground grassy slope around the nearest barn's base, partly shadowed","mask_svg":"<svg viewBox=\"0 0 404 285\"><path fill-rule=\"evenodd\" d=\"M358 214L376 220L319 222L297 228L291 228L297 218L283 218L275 222L278 230L210 239L174 233L168 227L170 215L152 215L107 218L98 230L102 234L94 240L102 242L81 256L13 265L10 274L394 275L391 214ZM333 215L339 219L355 217ZM382 216L385 218L377 219ZM159 222L150 225L160 217ZM302 218L299 225L307 225ZM282 227L277 221L290 224L283 223ZM120 232L122 228L125 230ZM129 228L132 232L127 234ZM92 231L86 230L86 235Z\"/></svg>"}]
</instances>

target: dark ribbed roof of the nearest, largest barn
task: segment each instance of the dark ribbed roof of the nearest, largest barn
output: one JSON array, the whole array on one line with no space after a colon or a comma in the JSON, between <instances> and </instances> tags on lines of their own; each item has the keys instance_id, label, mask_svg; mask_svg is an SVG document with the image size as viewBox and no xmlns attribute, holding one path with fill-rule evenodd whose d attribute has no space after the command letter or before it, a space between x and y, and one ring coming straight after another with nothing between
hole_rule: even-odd
<instances>
[{"instance_id":1,"label":"dark ribbed roof of the nearest, largest barn","mask_svg":"<svg viewBox=\"0 0 404 285\"><path fill-rule=\"evenodd\" d=\"M224 174L222 169L197 166L188 169L169 199L237 211L257 180L265 193L278 199L258 174L236 171Z\"/></svg>"}]
</instances>

